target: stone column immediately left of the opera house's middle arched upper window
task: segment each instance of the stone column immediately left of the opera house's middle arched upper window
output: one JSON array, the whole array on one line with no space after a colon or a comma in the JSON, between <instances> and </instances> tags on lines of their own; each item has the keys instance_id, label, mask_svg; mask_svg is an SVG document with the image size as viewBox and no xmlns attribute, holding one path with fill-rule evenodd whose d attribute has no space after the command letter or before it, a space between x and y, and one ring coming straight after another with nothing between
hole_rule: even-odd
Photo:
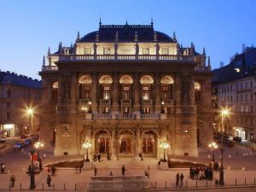
<instances>
[{"instance_id":1,"label":"stone column immediately left of the opera house's middle arched upper window","mask_svg":"<svg viewBox=\"0 0 256 192\"><path fill-rule=\"evenodd\" d=\"M115 118L116 114L119 114L119 101L118 101L118 95L119 95L119 76L117 73L113 74L113 84L112 84L112 108L111 113L113 117Z\"/></svg>"}]
</instances>

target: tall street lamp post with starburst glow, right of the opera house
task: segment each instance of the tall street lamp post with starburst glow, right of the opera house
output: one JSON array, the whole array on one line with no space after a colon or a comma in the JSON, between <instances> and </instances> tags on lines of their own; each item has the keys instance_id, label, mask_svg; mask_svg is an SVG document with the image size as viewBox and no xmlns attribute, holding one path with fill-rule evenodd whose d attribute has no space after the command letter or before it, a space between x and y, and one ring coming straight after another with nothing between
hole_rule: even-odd
<instances>
[{"instance_id":1,"label":"tall street lamp post with starburst glow, right of the opera house","mask_svg":"<svg viewBox=\"0 0 256 192\"><path fill-rule=\"evenodd\" d=\"M219 180L218 180L218 184L219 185L224 185L224 166L223 166L223 153L224 153L224 146L223 146L223 143L224 143L224 117L225 116L228 116L230 114L230 111L228 109L222 109L221 110L221 145L220 145L220 153L221 153L221 166L220 166L220 170L219 170Z\"/></svg>"}]
</instances>

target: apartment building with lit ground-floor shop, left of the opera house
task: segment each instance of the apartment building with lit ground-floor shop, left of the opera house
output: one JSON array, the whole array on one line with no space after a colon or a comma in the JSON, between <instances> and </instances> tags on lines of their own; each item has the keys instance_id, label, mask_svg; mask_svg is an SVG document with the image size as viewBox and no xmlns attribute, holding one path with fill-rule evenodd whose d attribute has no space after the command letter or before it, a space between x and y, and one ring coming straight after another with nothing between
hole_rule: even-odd
<instances>
[{"instance_id":1,"label":"apartment building with lit ground-floor shop, left of the opera house","mask_svg":"<svg viewBox=\"0 0 256 192\"><path fill-rule=\"evenodd\" d=\"M0 137L19 137L39 126L41 82L0 71ZM33 113L28 113L33 109Z\"/></svg>"}]
</instances>

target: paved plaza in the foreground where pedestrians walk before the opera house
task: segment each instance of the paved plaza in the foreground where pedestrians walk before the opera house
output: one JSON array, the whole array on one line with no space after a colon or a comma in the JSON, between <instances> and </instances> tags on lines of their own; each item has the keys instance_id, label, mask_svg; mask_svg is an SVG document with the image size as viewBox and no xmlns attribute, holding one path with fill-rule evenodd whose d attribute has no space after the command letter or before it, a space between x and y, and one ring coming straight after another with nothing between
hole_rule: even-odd
<instances>
[{"instance_id":1,"label":"paved plaza in the foreground where pedestrians walk before the opera house","mask_svg":"<svg viewBox=\"0 0 256 192\"><path fill-rule=\"evenodd\" d=\"M224 180L225 187L230 187L234 185L244 186L250 185L254 183L254 177L256 177L256 165L255 160L256 156L250 154L251 151L247 148L238 147L238 156L236 157L236 148L226 148L224 153ZM30 163L29 153L30 148L26 148L24 151L16 150L10 154L1 154L0 163L5 163L7 174L0 175L0 189L7 190L9 189L9 177L14 174L16 177L15 187L12 190L19 190L20 184L21 189L29 189L30 185L30 177L26 174L27 167ZM44 150L40 152L43 155L43 164L50 164L53 162L61 161L61 160L72 160L83 158L83 155L80 156L62 156L62 157L54 157L52 148L49 150ZM192 157L175 157L175 159L182 160L192 160L195 162L201 163L209 163L210 157L212 157L211 151L206 151L200 149L200 156L198 158ZM216 159L219 156L218 151L215 154ZM173 157L174 159L174 157ZM102 163L96 163L94 166L98 167L97 175L98 176L108 176L109 172L112 171L114 176L121 175L121 165L115 164L112 168L103 168L103 164L107 165L107 160L102 160ZM114 162L113 162L114 164ZM144 171L148 169L147 165L141 166L133 166L132 164L126 166L127 171L125 175L127 176L138 176L143 175ZM185 189L187 186L189 189L192 188L215 188L215 179L218 179L218 172L214 172L212 181L206 180L192 180L189 178L189 169L170 169L167 171L160 171L158 166L150 167L150 189L160 190L168 190L175 189L175 181L177 172L183 172L184 181L183 186L178 186L177 190ZM43 172L36 174L36 189L55 189L55 190L64 190L74 191L84 190L86 188L87 183L90 181L90 177L94 176L93 170L84 171L78 173L75 169L58 169L55 172L55 177L52 177L52 186L46 186L46 177L47 177L47 169L44 169ZM65 185L65 187L64 187ZM196 189L198 190L198 189ZM255 188L249 189L246 191L256 191ZM204 191L201 189L201 191ZM211 189L211 191L213 191ZM222 191L222 189L214 190L214 191ZM229 191L229 189L226 189ZM244 189L232 189L232 191L244 191Z\"/></svg>"}]
</instances>

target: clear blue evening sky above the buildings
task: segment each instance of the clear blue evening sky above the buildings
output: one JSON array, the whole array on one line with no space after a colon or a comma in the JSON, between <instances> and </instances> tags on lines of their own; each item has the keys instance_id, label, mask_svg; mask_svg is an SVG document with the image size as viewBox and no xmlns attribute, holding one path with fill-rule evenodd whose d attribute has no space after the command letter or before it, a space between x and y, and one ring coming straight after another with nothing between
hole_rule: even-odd
<instances>
[{"instance_id":1,"label":"clear blue evening sky above the buildings","mask_svg":"<svg viewBox=\"0 0 256 192\"><path fill-rule=\"evenodd\" d=\"M256 46L255 0L0 0L0 69L38 78L48 47L55 51L102 24L149 24L183 46L206 48L212 68L241 44Z\"/></svg>"}]
</instances>

